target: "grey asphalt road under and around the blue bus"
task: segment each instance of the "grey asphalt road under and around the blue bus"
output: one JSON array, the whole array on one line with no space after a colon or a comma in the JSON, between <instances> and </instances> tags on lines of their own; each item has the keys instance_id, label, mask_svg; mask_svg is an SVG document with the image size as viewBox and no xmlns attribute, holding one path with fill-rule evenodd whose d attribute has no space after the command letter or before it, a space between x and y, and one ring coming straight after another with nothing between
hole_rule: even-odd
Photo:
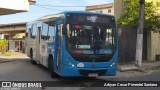
<instances>
[{"instance_id":1,"label":"grey asphalt road under and around the blue bus","mask_svg":"<svg viewBox=\"0 0 160 90\"><path fill-rule=\"evenodd\" d=\"M88 85L96 84L98 81L160 81L160 71L154 73L128 77L128 78L106 78L101 77L97 79L93 78L51 78L49 70L40 65L32 65L28 59L17 59L12 62L0 63L0 81L55 81L63 85L72 86L87 86L87 87L54 87L45 90L106 90L108 87L88 87ZM66 82L72 80L74 82ZM90 83L89 81L92 82ZM83 83L81 82L83 81ZM27 88L22 88L28 90ZM30 90L39 90L41 88L32 88ZM131 87L115 87L109 88L111 90L158 90L158 88L131 88ZM1 90L1 89L0 89ZM160 90L160 88L159 88Z\"/></svg>"}]
</instances>

